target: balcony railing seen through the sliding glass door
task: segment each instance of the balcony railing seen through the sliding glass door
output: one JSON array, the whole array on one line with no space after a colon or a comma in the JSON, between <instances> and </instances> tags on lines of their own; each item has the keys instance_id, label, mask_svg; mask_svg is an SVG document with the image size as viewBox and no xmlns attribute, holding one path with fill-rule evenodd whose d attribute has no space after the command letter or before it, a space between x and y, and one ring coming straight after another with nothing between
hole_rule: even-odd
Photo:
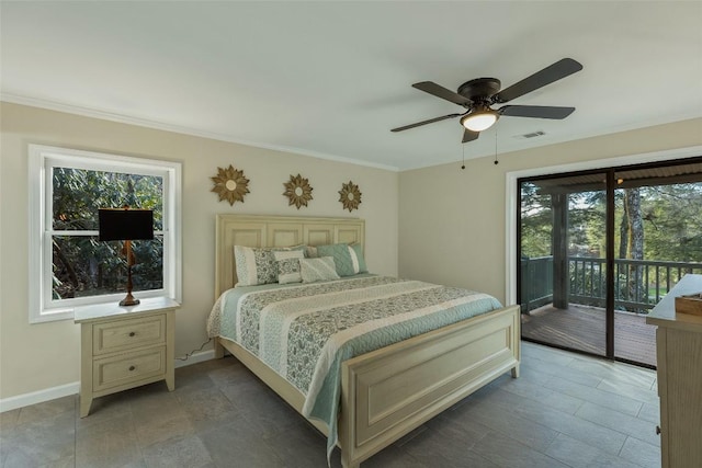
<instances>
[{"instance_id":1,"label":"balcony railing seen through the sliding glass door","mask_svg":"<svg viewBox=\"0 0 702 468\"><path fill-rule=\"evenodd\" d=\"M569 301L605 307L605 259L569 256ZM614 308L647 313L688 273L702 263L614 260ZM553 301L553 256L522 258L522 311Z\"/></svg>"}]
</instances>

